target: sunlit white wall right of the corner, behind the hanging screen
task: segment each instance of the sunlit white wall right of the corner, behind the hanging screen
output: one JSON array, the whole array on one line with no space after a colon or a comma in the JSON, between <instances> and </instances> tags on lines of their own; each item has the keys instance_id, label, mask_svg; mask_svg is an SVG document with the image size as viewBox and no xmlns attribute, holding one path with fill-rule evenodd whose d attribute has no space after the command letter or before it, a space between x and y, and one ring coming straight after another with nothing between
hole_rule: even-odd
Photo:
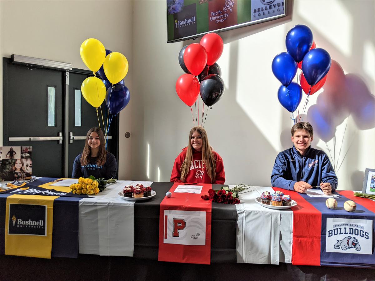
<instances>
[{"instance_id":1,"label":"sunlit white wall right of the corner, behind the hanging screen","mask_svg":"<svg viewBox=\"0 0 375 281\"><path fill-rule=\"evenodd\" d=\"M276 155L292 145L293 121L278 102L280 83L272 74L271 62L285 51L285 35L294 25L308 25L318 47L326 49L348 75L342 74L341 81L338 74L333 75L330 81L327 79L325 93L320 90L310 96L304 121L316 122L316 107L312 106L319 96L323 101L316 106L321 111L328 108L326 111L341 113L342 107L335 108L340 96L331 103L324 97L335 96L343 81L345 102L356 102L357 94L365 97L365 102L374 99L374 1L305 0L287 4L289 16L283 19L220 33L225 45L218 64L225 93L208 112L205 129L210 144L223 157L227 184L269 186ZM139 180L169 181L173 161L187 145L193 126L190 109L179 100L174 87L183 74L178 52L194 41L166 43L165 9L163 0L134 3L131 174ZM370 104L368 110L373 116L374 103L366 104ZM330 152L332 158L335 152L336 169L344 159L338 170L339 189L361 190L365 168L375 167L375 121L367 119L361 125L363 119L354 113L358 112L330 121L330 127L337 130L335 146L333 138L327 143L331 151L318 133L312 143Z\"/></svg>"}]
</instances>

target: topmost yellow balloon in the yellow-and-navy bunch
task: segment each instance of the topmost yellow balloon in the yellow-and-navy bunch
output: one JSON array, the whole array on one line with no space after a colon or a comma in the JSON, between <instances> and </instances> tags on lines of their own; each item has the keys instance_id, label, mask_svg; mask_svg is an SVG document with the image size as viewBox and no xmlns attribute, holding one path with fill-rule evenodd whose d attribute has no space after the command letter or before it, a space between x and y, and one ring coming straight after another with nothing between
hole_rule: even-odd
<instances>
[{"instance_id":1,"label":"topmost yellow balloon in the yellow-and-navy bunch","mask_svg":"<svg viewBox=\"0 0 375 281\"><path fill-rule=\"evenodd\" d=\"M97 72L105 59L105 48L98 39L90 38L83 41L80 54L83 62L93 72Z\"/></svg>"}]
</instances>

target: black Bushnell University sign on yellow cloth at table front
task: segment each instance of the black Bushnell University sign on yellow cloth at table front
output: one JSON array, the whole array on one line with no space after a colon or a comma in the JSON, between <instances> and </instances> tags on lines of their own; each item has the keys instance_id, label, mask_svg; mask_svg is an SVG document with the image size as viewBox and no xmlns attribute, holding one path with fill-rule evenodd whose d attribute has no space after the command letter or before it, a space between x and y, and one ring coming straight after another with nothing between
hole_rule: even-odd
<instances>
[{"instance_id":1,"label":"black Bushnell University sign on yellow cloth at table front","mask_svg":"<svg viewBox=\"0 0 375 281\"><path fill-rule=\"evenodd\" d=\"M47 206L9 204L9 235L46 236Z\"/></svg>"}]
</instances>

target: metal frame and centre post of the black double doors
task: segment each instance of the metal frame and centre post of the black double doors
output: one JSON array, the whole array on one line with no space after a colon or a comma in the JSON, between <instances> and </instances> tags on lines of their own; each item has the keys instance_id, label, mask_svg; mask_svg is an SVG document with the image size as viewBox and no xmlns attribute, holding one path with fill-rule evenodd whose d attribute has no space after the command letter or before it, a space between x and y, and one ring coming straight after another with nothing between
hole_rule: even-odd
<instances>
[{"instance_id":1,"label":"metal frame and centre post of the black double doors","mask_svg":"<svg viewBox=\"0 0 375 281\"><path fill-rule=\"evenodd\" d=\"M14 62L13 62L14 60ZM19 60L19 61L16 61ZM39 58L30 58L24 57L19 55L12 55L12 58L5 58L3 57L3 146L8 145L8 118L7 113L8 109L4 105L7 105L8 102L8 65L9 64L23 64L30 67L40 67L40 64L43 63L43 68L49 70L59 70L62 74L62 98L63 98L63 116L62 116L62 127L63 127L63 176L69 178L68 170L69 170L69 73L77 73L77 74L86 74L92 75L90 70L72 68L71 64L68 63L60 63L58 61L49 61L43 60ZM69 67L70 65L70 67ZM115 116L113 122L113 126L115 127L115 133L112 136L113 141L116 142L115 148L116 153L115 157L118 159L118 140L119 140L119 133L120 133L120 121L118 117ZM117 161L117 178L118 178L118 161Z\"/></svg>"}]
</instances>

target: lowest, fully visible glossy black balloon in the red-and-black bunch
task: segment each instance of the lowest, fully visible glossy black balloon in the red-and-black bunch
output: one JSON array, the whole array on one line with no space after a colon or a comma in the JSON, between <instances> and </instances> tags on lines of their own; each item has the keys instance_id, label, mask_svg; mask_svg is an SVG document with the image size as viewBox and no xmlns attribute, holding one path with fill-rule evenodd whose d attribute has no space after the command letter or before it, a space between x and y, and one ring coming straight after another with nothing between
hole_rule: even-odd
<instances>
[{"instance_id":1,"label":"lowest, fully visible glossy black balloon in the red-and-black bunch","mask_svg":"<svg viewBox=\"0 0 375 281\"><path fill-rule=\"evenodd\" d=\"M207 75L201 82L200 93L205 105L214 105L224 93L223 79L217 74Z\"/></svg>"}]
</instances>

